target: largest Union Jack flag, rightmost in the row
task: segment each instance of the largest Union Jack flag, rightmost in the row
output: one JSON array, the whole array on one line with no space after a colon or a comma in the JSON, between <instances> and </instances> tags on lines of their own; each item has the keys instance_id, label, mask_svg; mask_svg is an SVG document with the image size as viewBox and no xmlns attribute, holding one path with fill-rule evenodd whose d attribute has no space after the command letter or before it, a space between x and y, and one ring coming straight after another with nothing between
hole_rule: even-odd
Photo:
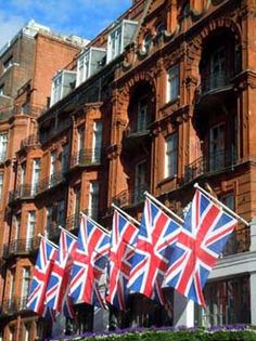
<instances>
[{"instance_id":1,"label":"largest Union Jack flag, rightmost in the row","mask_svg":"<svg viewBox=\"0 0 256 341\"><path fill-rule=\"evenodd\" d=\"M196 189L163 286L205 306L203 287L236 223Z\"/></svg>"}]
</instances>

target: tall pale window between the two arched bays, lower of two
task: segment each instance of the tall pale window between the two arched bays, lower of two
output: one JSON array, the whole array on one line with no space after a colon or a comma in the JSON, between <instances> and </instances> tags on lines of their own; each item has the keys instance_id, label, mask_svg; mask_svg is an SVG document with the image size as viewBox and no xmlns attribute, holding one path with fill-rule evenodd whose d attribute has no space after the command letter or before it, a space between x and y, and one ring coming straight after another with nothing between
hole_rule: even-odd
<instances>
[{"instance_id":1,"label":"tall pale window between the two arched bays, lower of two","mask_svg":"<svg viewBox=\"0 0 256 341\"><path fill-rule=\"evenodd\" d=\"M165 142L165 178L177 174L178 135L174 133Z\"/></svg>"}]
</instances>

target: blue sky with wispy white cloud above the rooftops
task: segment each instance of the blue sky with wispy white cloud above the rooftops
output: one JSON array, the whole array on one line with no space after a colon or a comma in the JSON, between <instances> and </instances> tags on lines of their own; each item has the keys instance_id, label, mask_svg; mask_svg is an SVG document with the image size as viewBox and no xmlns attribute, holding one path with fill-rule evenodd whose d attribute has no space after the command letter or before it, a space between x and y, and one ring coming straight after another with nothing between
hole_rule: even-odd
<instances>
[{"instance_id":1,"label":"blue sky with wispy white cloud above the rooftops","mask_svg":"<svg viewBox=\"0 0 256 341\"><path fill-rule=\"evenodd\" d=\"M0 48L31 18L56 34L92 39L130 4L131 0L0 0Z\"/></svg>"}]
</instances>

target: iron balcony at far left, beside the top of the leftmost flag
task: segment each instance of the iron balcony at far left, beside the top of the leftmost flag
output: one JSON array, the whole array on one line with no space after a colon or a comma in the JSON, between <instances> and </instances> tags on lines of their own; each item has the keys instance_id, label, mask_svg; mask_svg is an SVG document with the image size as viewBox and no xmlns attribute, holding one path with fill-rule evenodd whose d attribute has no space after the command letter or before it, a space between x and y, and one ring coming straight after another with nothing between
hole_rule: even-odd
<instances>
[{"instance_id":1,"label":"iron balcony at far left, beside the top of the leftmost flag","mask_svg":"<svg viewBox=\"0 0 256 341\"><path fill-rule=\"evenodd\" d=\"M40 238L16 239L3 246L3 259L13 255L29 254L36 251L39 247Z\"/></svg>"}]
</instances>

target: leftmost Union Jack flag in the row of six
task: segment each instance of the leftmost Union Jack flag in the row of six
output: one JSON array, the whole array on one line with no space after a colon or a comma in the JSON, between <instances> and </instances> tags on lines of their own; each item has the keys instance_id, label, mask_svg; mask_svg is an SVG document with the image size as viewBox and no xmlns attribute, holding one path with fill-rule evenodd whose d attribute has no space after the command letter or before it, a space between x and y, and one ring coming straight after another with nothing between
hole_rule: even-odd
<instances>
[{"instance_id":1,"label":"leftmost Union Jack flag in the row of six","mask_svg":"<svg viewBox=\"0 0 256 341\"><path fill-rule=\"evenodd\" d=\"M54 248L44 238L41 238L39 252L34 267L33 280L29 287L27 307L39 315L44 315L44 299L47 285L56 257Z\"/></svg>"}]
</instances>

